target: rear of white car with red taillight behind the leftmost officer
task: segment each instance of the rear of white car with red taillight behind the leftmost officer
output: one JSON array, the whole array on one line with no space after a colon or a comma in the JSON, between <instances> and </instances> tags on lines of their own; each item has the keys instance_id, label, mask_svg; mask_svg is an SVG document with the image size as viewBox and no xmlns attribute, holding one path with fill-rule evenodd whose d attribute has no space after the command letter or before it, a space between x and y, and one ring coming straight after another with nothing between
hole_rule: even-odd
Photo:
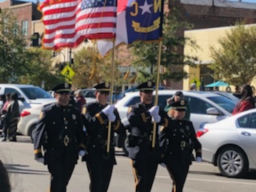
<instances>
[{"instance_id":1,"label":"rear of white car with red taillight behind the leftmost officer","mask_svg":"<svg viewBox=\"0 0 256 192\"><path fill-rule=\"evenodd\" d=\"M54 100L54 102L56 101ZM42 108L45 106L49 106L54 102L46 102L38 106L23 109L17 126L18 133L31 137L32 131L34 130L38 122Z\"/></svg>"}]
</instances>

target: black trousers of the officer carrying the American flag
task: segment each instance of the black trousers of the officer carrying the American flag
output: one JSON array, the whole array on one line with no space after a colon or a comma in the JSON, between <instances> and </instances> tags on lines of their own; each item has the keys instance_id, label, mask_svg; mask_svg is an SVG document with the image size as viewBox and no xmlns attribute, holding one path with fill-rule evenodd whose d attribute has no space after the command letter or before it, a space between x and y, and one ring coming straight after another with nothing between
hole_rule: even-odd
<instances>
[{"instance_id":1,"label":"black trousers of the officer carrying the American flag","mask_svg":"<svg viewBox=\"0 0 256 192\"><path fill-rule=\"evenodd\" d=\"M113 164L109 161L86 162L87 170L90 174L90 192L106 192L110 185L113 171Z\"/></svg>"}]
</instances>

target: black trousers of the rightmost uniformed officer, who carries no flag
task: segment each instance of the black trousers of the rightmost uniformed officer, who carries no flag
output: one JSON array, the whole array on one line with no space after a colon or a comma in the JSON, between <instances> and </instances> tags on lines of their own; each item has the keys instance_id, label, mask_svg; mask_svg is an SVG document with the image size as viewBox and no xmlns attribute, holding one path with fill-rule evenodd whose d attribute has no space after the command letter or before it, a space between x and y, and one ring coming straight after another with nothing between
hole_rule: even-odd
<instances>
[{"instance_id":1,"label":"black trousers of the rightmost uniformed officer, who carries no flag","mask_svg":"<svg viewBox=\"0 0 256 192\"><path fill-rule=\"evenodd\" d=\"M172 192L182 192L184 184L186 182L186 176L190 169L190 157L186 162L186 159L181 158L167 158L166 169L168 170L170 177L173 179Z\"/></svg>"}]
</instances>

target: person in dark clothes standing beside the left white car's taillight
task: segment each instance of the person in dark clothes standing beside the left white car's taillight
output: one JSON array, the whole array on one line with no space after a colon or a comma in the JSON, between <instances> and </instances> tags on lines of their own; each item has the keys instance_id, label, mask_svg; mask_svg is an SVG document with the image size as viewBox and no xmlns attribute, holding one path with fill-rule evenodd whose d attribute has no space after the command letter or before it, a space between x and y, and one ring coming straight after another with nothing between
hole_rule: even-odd
<instances>
[{"instance_id":1,"label":"person in dark clothes standing beside the left white car's taillight","mask_svg":"<svg viewBox=\"0 0 256 192\"><path fill-rule=\"evenodd\" d=\"M12 142L17 142L17 125L20 118L19 106L18 106L18 94L10 94L10 103L7 106L6 115L4 118L4 139L6 141L9 139Z\"/></svg>"}]
</instances>

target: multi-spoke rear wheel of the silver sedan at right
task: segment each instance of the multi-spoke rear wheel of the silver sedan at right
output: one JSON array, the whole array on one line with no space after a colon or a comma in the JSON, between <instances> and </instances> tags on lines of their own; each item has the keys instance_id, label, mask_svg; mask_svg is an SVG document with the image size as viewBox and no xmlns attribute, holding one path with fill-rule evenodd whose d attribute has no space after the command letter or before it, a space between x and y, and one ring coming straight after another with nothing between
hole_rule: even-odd
<instances>
[{"instance_id":1,"label":"multi-spoke rear wheel of the silver sedan at right","mask_svg":"<svg viewBox=\"0 0 256 192\"><path fill-rule=\"evenodd\" d=\"M226 147L218 153L217 165L222 175L230 178L242 177L249 169L246 154L235 146Z\"/></svg>"}]
</instances>

